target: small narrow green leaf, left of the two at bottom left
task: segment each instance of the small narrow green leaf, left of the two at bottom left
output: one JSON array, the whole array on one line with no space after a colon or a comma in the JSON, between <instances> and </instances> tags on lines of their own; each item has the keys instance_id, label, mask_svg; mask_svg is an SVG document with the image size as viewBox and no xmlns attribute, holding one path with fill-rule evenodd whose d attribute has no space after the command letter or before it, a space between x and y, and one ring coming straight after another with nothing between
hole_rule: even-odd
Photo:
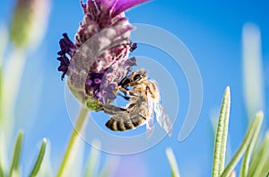
<instances>
[{"instance_id":1,"label":"small narrow green leaf, left of the two at bottom left","mask_svg":"<svg viewBox=\"0 0 269 177\"><path fill-rule=\"evenodd\" d=\"M22 140L23 140L23 131L21 130L18 134L18 137L16 139L16 144L13 149L13 158L12 158L12 164L9 168L9 174L8 176L12 177L14 173L19 172L19 164L21 159L21 153L22 153Z\"/></svg>"}]
</instances>

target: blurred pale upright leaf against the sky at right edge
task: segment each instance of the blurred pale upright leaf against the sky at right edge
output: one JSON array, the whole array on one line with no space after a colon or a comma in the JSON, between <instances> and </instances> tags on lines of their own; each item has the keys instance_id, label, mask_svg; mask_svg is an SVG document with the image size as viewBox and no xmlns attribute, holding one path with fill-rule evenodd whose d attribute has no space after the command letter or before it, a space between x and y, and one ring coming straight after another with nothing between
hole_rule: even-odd
<instances>
[{"instance_id":1,"label":"blurred pale upright leaf against the sky at right edge","mask_svg":"<svg viewBox=\"0 0 269 177\"><path fill-rule=\"evenodd\" d=\"M256 111L265 108L265 79L261 31L254 23L245 23L242 31L243 96L249 122Z\"/></svg>"}]
</instances>

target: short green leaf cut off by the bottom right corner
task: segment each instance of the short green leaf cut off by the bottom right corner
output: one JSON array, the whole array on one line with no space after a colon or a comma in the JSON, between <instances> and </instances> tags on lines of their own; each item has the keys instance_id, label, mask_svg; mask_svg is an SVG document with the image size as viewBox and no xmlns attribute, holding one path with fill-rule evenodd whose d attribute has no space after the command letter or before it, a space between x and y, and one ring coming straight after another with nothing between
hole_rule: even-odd
<instances>
[{"instance_id":1,"label":"short green leaf cut off by the bottom right corner","mask_svg":"<svg viewBox=\"0 0 269 177\"><path fill-rule=\"evenodd\" d=\"M256 176L256 175L265 176L266 171L269 170L268 169L269 165L267 165L267 169L266 169L266 161L269 158L268 147L269 147L269 131L265 134L265 140L261 148L259 149L258 153L253 158L253 161L250 164L249 173L247 174L247 176L249 177ZM265 172L263 172L264 168L265 168Z\"/></svg>"}]
</instances>

